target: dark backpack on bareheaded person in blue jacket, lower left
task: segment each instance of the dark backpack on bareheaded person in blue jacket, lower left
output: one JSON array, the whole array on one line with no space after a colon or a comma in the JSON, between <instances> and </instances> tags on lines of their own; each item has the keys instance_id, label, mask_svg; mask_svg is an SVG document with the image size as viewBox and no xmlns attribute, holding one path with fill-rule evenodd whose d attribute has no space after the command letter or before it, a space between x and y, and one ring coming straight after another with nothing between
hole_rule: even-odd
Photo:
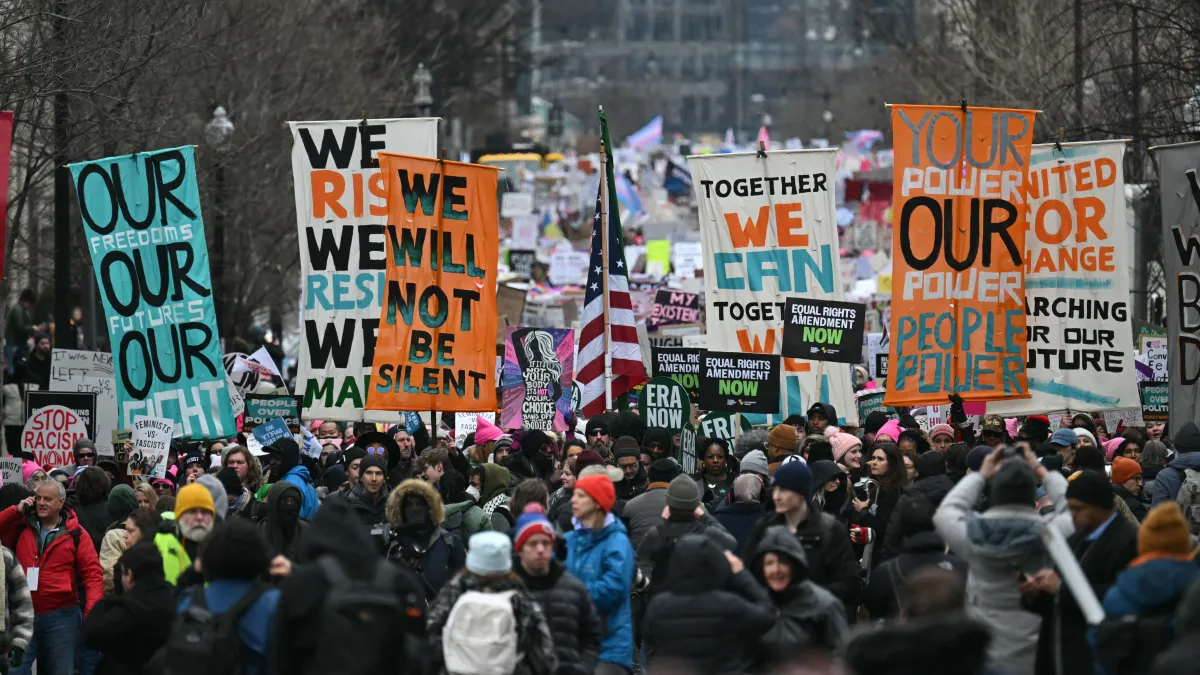
<instances>
[{"instance_id":1,"label":"dark backpack on bareheaded person in blue jacket, lower left","mask_svg":"<svg viewBox=\"0 0 1200 675\"><path fill-rule=\"evenodd\" d=\"M204 586L192 586L192 604L167 635L166 675L241 675L245 656L238 625L241 615L266 590L256 584L229 611L214 615L204 602Z\"/></svg>"}]
</instances>

